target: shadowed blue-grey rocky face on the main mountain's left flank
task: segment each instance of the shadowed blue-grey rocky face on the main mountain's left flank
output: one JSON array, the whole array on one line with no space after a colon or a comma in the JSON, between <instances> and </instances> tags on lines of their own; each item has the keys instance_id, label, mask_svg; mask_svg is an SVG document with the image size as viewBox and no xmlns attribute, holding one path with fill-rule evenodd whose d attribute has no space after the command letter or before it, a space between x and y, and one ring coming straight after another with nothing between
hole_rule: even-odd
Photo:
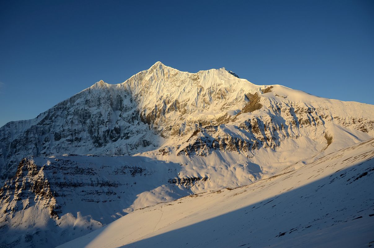
<instances>
[{"instance_id":1,"label":"shadowed blue-grey rocky face on the main mountain's left flank","mask_svg":"<svg viewBox=\"0 0 374 248\"><path fill-rule=\"evenodd\" d=\"M134 154L153 150L160 138L140 120L126 89L100 81L33 120L0 129L1 178L12 177L26 156Z\"/></svg>"}]
</instances>

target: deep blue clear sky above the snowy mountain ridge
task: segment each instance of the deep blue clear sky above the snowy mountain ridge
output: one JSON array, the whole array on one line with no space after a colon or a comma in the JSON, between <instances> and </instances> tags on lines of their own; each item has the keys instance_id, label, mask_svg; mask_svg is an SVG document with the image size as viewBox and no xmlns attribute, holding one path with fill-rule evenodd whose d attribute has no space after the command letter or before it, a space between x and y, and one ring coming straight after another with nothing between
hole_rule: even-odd
<instances>
[{"instance_id":1,"label":"deep blue clear sky above the snowy mountain ridge","mask_svg":"<svg viewBox=\"0 0 374 248\"><path fill-rule=\"evenodd\" d=\"M156 61L374 104L374 1L1 1L0 126Z\"/></svg>"}]
</instances>

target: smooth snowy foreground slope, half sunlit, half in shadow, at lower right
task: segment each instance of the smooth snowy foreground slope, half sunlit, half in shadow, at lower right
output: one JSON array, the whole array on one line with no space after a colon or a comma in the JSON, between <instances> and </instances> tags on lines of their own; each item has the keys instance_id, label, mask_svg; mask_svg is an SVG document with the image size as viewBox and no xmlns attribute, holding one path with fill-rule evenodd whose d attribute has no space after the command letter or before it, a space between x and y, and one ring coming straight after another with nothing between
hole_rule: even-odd
<instances>
[{"instance_id":1,"label":"smooth snowy foreground slope, half sunlit, half in shadow, at lower right","mask_svg":"<svg viewBox=\"0 0 374 248\"><path fill-rule=\"evenodd\" d=\"M254 184L138 209L70 247L370 247L374 139Z\"/></svg>"}]
</instances>

